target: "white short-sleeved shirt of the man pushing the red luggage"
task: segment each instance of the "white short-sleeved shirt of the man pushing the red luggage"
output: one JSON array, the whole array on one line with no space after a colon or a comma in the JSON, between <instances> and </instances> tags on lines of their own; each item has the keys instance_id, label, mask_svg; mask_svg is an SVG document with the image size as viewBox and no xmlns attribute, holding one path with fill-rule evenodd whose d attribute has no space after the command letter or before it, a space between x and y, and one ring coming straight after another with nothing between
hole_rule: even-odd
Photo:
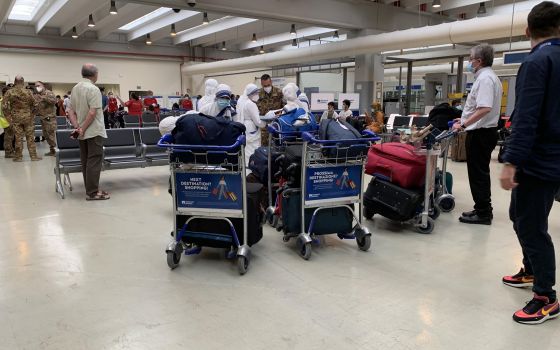
<instances>
[{"instance_id":1,"label":"white short-sleeved shirt of the man pushing the red luggage","mask_svg":"<svg viewBox=\"0 0 560 350\"><path fill-rule=\"evenodd\" d=\"M498 126L502 93L502 83L492 68L484 67L476 72L473 87L463 108L461 123L469 119L477 108L489 107L492 111L476 123L469 125L467 131Z\"/></svg>"}]
</instances>

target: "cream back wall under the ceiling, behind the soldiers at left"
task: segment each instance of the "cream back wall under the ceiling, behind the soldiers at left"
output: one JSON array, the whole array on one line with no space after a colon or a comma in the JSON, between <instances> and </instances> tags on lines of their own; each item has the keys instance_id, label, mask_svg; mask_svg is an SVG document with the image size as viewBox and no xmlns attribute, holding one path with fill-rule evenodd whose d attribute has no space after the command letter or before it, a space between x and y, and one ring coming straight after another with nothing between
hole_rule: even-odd
<instances>
[{"instance_id":1,"label":"cream back wall under the ceiling, behind the soldiers at left","mask_svg":"<svg viewBox=\"0 0 560 350\"><path fill-rule=\"evenodd\" d=\"M99 68L98 85L118 85L123 98L129 90L153 90L156 95L181 92L181 63L153 59L0 52L0 80L13 81L20 74L26 81L75 84L85 62Z\"/></svg>"}]
</instances>

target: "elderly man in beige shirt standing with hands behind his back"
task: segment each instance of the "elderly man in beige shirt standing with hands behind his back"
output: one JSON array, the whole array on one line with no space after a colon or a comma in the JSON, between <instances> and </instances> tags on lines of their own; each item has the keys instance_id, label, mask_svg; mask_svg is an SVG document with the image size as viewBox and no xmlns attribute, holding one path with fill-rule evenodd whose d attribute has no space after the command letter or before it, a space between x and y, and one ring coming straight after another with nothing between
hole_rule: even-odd
<instances>
[{"instance_id":1,"label":"elderly man in beige shirt standing with hands behind his back","mask_svg":"<svg viewBox=\"0 0 560 350\"><path fill-rule=\"evenodd\" d=\"M103 139L107 138L103 121L101 91L97 82L98 69L91 63L82 67L81 82L72 89L68 117L76 129L80 142L82 175L86 186L86 200L109 199L109 193L99 190L103 162Z\"/></svg>"}]
</instances>

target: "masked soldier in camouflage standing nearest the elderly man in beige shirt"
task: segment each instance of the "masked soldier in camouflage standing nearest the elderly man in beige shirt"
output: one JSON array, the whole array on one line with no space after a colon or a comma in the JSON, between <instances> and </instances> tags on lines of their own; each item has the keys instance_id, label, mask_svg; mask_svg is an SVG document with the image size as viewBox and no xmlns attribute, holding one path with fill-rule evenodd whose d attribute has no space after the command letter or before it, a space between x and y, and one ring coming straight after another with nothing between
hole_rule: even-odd
<instances>
[{"instance_id":1,"label":"masked soldier in camouflage standing nearest the elderly man in beige shirt","mask_svg":"<svg viewBox=\"0 0 560 350\"><path fill-rule=\"evenodd\" d=\"M35 83L35 90L37 93L33 96L37 103L36 115L41 117L43 137L47 139L50 147L50 152L45 153L45 155L54 156L56 147L54 139L56 134L56 96L41 81Z\"/></svg>"}]
</instances>

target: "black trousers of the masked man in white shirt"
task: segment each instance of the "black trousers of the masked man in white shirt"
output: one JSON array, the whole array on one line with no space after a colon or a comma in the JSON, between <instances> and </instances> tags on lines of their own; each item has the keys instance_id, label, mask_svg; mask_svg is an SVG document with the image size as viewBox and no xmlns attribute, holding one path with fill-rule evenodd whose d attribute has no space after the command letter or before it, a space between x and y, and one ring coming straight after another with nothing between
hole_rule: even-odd
<instances>
[{"instance_id":1,"label":"black trousers of the masked man in white shirt","mask_svg":"<svg viewBox=\"0 0 560 350\"><path fill-rule=\"evenodd\" d=\"M498 143L498 129L467 131L467 169L474 209L481 215L492 215L490 160Z\"/></svg>"}]
</instances>

